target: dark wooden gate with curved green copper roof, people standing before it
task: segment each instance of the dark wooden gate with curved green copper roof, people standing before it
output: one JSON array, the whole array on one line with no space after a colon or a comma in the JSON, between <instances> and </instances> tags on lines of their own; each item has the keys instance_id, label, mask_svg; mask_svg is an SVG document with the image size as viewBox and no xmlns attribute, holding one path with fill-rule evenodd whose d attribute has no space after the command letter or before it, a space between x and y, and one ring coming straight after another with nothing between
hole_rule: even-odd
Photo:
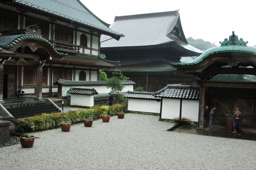
<instances>
[{"instance_id":1,"label":"dark wooden gate with curved green copper roof, people standing before it","mask_svg":"<svg viewBox=\"0 0 256 170\"><path fill-rule=\"evenodd\" d=\"M210 80L217 74L256 75L256 48L247 43L233 31L228 39L220 42L221 46L204 51L192 61L172 63L179 73L200 78L197 80L200 86L198 130L204 130L205 106L217 108L214 125L226 126L227 117L233 117L239 108L242 126L256 127L256 82Z\"/></svg>"}]
</instances>

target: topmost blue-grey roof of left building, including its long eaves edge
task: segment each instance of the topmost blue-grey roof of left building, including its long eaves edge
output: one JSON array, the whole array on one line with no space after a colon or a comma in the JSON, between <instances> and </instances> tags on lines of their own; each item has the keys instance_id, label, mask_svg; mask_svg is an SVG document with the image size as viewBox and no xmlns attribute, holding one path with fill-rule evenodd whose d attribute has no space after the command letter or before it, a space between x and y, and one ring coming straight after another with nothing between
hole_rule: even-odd
<instances>
[{"instance_id":1,"label":"topmost blue-grey roof of left building, including its long eaves edge","mask_svg":"<svg viewBox=\"0 0 256 170\"><path fill-rule=\"evenodd\" d=\"M108 28L109 24L96 17L79 0L48 0L47 2L46 0L14 0L6 5L40 14L49 19L72 23L74 26L106 34L116 40L124 36Z\"/></svg>"}]
</instances>

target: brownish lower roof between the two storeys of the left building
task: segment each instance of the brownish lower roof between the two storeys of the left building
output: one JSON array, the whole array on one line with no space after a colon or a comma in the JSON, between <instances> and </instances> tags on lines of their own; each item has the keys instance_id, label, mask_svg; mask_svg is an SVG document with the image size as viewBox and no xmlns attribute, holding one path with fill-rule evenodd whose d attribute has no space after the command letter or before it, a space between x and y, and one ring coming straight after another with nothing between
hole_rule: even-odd
<instances>
[{"instance_id":1,"label":"brownish lower roof between the two storeys of the left building","mask_svg":"<svg viewBox=\"0 0 256 170\"><path fill-rule=\"evenodd\" d=\"M67 55L63 57L63 60L47 60L48 64L63 64L69 63L69 66L80 66L80 67L90 67L90 68L115 68L118 66L118 62L108 61L106 59L101 59L98 57L87 57L79 55Z\"/></svg>"}]
</instances>

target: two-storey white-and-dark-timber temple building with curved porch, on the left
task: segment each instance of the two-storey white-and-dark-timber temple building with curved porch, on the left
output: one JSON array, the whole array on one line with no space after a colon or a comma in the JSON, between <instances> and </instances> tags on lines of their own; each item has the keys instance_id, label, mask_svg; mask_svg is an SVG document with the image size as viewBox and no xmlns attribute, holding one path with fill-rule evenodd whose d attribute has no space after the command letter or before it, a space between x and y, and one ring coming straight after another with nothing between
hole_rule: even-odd
<instances>
[{"instance_id":1,"label":"two-storey white-and-dark-timber temple building with curved porch, on the left","mask_svg":"<svg viewBox=\"0 0 256 170\"><path fill-rule=\"evenodd\" d=\"M12 0L0 3L0 100L17 91L57 96L58 79L99 80L99 69L118 62L100 58L100 37L123 37L80 0Z\"/></svg>"}]
</instances>

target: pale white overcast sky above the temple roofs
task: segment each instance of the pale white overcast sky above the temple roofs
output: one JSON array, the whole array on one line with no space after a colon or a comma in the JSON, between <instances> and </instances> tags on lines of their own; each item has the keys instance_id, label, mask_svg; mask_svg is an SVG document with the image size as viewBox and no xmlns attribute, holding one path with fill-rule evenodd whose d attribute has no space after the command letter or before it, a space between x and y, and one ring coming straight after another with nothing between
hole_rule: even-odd
<instances>
[{"instance_id":1,"label":"pale white overcast sky above the temple roofs","mask_svg":"<svg viewBox=\"0 0 256 170\"><path fill-rule=\"evenodd\" d=\"M256 0L81 0L95 15L112 24L115 16L179 10L186 38L211 43L228 38L232 31L256 45Z\"/></svg>"}]
</instances>

